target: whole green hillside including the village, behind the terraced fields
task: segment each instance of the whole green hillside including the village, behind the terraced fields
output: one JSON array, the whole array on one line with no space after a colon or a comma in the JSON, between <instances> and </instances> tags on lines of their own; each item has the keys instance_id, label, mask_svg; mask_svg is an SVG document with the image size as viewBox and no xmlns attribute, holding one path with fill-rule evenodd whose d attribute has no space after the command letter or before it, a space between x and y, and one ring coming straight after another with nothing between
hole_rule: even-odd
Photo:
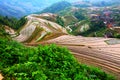
<instances>
[{"instance_id":1,"label":"whole green hillside including the village, behind the terraced fields","mask_svg":"<svg viewBox=\"0 0 120 80\"><path fill-rule=\"evenodd\" d=\"M57 14L62 17L64 26L70 34L104 37L104 34L107 33L108 37L119 38L120 34L114 30L114 27L120 26L119 9L119 6L109 6L108 8L71 6ZM111 33L112 35L109 35Z\"/></svg>"}]
</instances>

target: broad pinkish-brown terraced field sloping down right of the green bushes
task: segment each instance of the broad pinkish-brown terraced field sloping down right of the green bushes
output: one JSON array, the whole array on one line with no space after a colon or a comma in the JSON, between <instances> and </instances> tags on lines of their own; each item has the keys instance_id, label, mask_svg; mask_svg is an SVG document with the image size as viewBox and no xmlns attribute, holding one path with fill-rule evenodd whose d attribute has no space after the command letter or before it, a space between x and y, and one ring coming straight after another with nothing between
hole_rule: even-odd
<instances>
[{"instance_id":1,"label":"broad pinkish-brown terraced field sloping down right of the green bushes","mask_svg":"<svg viewBox=\"0 0 120 80\"><path fill-rule=\"evenodd\" d=\"M120 80L120 44L108 45L112 38L92 38L64 35L39 44L55 43L66 46L80 63L97 66Z\"/></svg>"}]
</instances>

